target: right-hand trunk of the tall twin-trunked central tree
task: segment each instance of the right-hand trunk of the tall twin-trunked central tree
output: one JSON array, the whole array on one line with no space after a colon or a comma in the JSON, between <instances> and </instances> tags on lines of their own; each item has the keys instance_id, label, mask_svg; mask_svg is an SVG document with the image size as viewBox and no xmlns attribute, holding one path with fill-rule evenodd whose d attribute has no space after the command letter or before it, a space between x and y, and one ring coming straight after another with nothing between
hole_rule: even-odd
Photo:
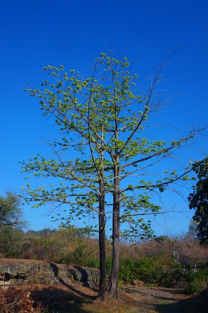
<instances>
[{"instance_id":1,"label":"right-hand trunk of the tall twin-trunked central tree","mask_svg":"<svg viewBox=\"0 0 208 313\"><path fill-rule=\"evenodd\" d=\"M120 242L120 168L114 168L114 199L113 199L113 262L111 277L106 292L112 297L118 295L118 272L119 272L119 242Z\"/></svg>"}]
</instances>

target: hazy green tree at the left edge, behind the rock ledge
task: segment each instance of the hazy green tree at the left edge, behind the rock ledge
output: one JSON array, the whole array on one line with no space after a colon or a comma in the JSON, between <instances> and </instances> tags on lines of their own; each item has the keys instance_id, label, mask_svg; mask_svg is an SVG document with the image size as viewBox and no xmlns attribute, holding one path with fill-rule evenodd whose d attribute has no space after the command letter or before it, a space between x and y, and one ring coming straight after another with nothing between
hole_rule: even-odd
<instances>
[{"instance_id":1,"label":"hazy green tree at the left edge, behind the rock ledge","mask_svg":"<svg viewBox=\"0 0 208 313\"><path fill-rule=\"evenodd\" d=\"M19 198L11 192L6 197L0 196L0 256L16 257L21 246L23 231L26 226Z\"/></svg>"}]
</instances>

